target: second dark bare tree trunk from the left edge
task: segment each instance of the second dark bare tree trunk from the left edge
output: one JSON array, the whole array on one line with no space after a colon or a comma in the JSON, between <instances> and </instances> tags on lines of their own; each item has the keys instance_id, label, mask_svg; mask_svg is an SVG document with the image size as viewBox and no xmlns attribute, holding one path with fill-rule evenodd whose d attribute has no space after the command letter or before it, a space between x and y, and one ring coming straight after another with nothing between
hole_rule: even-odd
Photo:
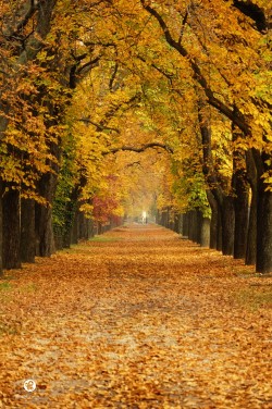
<instances>
[{"instance_id":1,"label":"second dark bare tree trunk from the left edge","mask_svg":"<svg viewBox=\"0 0 272 409\"><path fill-rule=\"evenodd\" d=\"M21 200L21 259L34 263L36 252L35 201Z\"/></svg>"}]
</instances>

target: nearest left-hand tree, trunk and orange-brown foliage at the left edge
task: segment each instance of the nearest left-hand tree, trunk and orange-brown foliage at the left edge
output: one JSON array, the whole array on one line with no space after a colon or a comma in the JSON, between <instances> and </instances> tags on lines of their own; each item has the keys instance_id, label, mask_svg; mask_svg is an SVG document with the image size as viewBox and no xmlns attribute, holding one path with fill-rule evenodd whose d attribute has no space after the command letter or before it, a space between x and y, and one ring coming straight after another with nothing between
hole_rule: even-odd
<instances>
[{"instance_id":1,"label":"nearest left-hand tree, trunk and orange-brown foliage at the left edge","mask_svg":"<svg viewBox=\"0 0 272 409\"><path fill-rule=\"evenodd\" d=\"M55 0L20 1L0 4L2 9L1 29L1 95L0 95L0 137L1 137L1 186L3 220L3 263L7 268L16 268L20 259L20 214L18 186L32 185L32 177L24 177L21 171L21 158L17 150L27 150L25 129L16 127L18 110L24 120L29 119L28 96L26 90L28 71L35 70L32 62L44 47L44 40L50 30L50 22ZM30 86L32 87L32 86ZM35 91L35 90L34 90ZM22 112L21 111L21 112ZM32 116L34 120L34 116ZM39 122L39 119L37 120ZM35 126L34 121L24 121L24 125ZM26 132L27 133L27 132ZM21 145L22 144L22 145ZM30 146L32 150L34 147ZM35 149L35 148L34 148ZM28 150L27 150L28 151ZM12 211L11 211L12 209ZM1 223L2 224L2 223ZM2 234L2 232L1 232ZM1 241L1 240L0 240Z\"/></svg>"}]
</instances>

